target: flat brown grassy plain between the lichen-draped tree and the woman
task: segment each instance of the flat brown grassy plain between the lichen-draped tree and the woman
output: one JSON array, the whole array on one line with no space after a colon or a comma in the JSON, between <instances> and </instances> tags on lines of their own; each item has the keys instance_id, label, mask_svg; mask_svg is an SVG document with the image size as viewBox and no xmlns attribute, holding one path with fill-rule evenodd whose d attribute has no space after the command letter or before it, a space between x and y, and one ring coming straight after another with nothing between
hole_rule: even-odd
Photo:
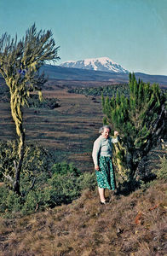
<instances>
[{"instance_id":1,"label":"flat brown grassy plain between the lichen-draped tree and the woman","mask_svg":"<svg viewBox=\"0 0 167 256\"><path fill-rule=\"evenodd\" d=\"M48 90L49 89L49 90ZM57 161L73 162L83 171L92 169L91 150L102 125L101 96L67 92L63 85L46 85L43 97L57 98L60 108L25 108L26 143L51 148ZM0 139L15 137L9 102L0 102Z\"/></svg>"}]
</instances>

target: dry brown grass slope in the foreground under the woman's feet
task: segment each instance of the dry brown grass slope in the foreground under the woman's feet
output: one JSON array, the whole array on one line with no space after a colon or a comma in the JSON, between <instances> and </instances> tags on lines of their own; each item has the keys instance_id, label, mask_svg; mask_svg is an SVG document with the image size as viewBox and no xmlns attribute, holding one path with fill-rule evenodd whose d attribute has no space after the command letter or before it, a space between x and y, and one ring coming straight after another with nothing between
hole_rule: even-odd
<instances>
[{"instance_id":1,"label":"dry brown grass slope in the foreground under the woman's feet","mask_svg":"<svg viewBox=\"0 0 167 256\"><path fill-rule=\"evenodd\" d=\"M97 191L85 190L68 206L0 219L1 255L165 255L165 190L165 183L156 183L107 206L99 204Z\"/></svg>"}]
</instances>

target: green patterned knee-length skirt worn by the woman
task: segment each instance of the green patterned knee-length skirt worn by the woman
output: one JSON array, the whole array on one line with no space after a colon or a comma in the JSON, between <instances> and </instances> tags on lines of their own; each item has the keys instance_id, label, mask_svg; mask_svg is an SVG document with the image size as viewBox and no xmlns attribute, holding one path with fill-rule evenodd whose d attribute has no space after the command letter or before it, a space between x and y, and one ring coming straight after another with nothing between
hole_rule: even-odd
<instances>
[{"instance_id":1,"label":"green patterned knee-length skirt worn by the woman","mask_svg":"<svg viewBox=\"0 0 167 256\"><path fill-rule=\"evenodd\" d=\"M95 171L98 187L103 189L116 189L111 157L101 156L99 160L99 167L100 171Z\"/></svg>"}]
</instances>

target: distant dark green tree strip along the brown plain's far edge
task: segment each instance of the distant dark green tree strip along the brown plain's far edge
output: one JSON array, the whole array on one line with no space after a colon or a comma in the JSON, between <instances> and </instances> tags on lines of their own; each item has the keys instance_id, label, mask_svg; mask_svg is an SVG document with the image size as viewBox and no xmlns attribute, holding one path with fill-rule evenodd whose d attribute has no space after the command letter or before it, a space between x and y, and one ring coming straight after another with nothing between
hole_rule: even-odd
<instances>
[{"instance_id":1,"label":"distant dark green tree strip along the brown plain's far edge","mask_svg":"<svg viewBox=\"0 0 167 256\"><path fill-rule=\"evenodd\" d=\"M73 88L68 90L70 93L78 93L86 96L116 96L117 91L124 96L129 96L130 90L127 84L113 84L101 87L90 87L90 88Z\"/></svg>"}]
</instances>

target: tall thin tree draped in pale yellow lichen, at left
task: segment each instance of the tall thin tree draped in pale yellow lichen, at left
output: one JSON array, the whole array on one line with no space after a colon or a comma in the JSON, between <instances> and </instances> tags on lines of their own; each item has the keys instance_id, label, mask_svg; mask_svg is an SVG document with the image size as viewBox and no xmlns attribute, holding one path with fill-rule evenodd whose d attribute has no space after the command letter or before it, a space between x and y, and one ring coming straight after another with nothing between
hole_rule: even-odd
<instances>
[{"instance_id":1,"label":"tall thin tree draped in pale yellow lichen, at left","mask_svg":"<svg viewBox=\"0 0 167 256\"><path fill-rule=\"evenodd\" d=\"M37 32L35 24L26 31L26 36L18 40L4 33L0 38L0 73L10 92L10 108L16 133L19 137L18 160L14 160L15 174L5 175L13 182L14 191L20 195L20 172L24 158L25 130L23 128L23 106L31 91L38 91L42 98L42 86L46 82L39 73L45 61L56 61L59 47L55 46L52 32Z\"/></svg>"}]
</instances>

